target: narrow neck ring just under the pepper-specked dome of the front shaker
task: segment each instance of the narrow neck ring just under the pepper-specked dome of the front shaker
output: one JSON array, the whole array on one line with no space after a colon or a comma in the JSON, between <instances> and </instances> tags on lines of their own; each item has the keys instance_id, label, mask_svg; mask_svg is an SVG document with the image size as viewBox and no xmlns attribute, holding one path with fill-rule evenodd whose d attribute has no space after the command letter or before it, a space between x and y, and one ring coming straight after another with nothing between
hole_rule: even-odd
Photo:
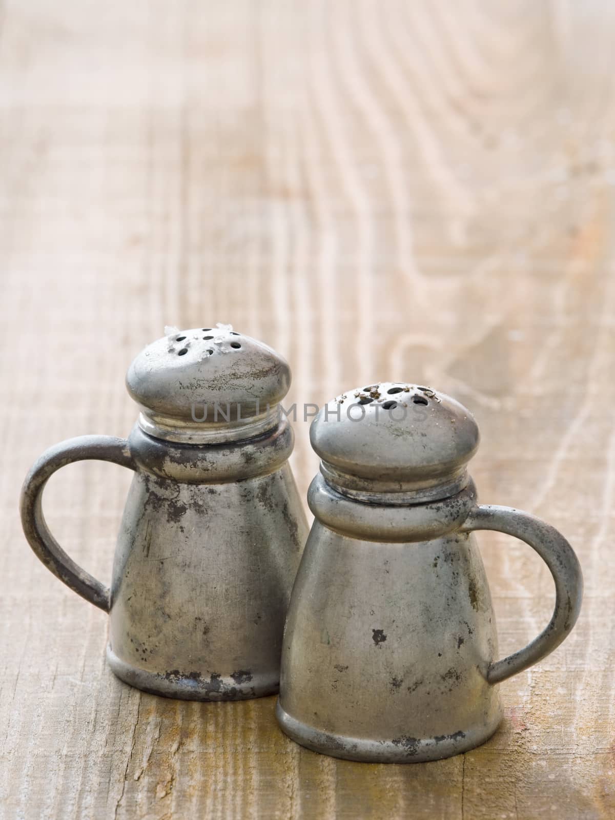
<instances>
[{"instance_id":1,"label":"narrow neck ring just under the pepper-specked dome of the front shaker","mask_svg":"<svg viewBox=\"0 0 615 820\"><path fill-rule=\"evenodd\" d=\"M326 484L348 499L391 506L447 499L464 490L470 481L465 465L446 476L404 482L353 476L336 470L325 461L321 461L320 469Z\"/></svg>"}]
</instances>

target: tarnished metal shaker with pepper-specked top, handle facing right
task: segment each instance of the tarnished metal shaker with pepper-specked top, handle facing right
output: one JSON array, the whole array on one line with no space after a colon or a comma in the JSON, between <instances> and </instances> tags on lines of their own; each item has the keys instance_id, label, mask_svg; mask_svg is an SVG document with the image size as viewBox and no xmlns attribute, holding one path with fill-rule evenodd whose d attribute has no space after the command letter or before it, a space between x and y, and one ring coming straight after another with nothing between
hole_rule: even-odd
<instances>
[{"instance_id":1,"label":"tarnished metal shaker with pepper-specked top, handle facing right","mask_svg":"<svg viewBox=\"0 0 615 820\"><path fill-rule=\"evenodd\" d=\"M476 503L471 413L430 388L351 390L312 422L315 516L289 604L281 728L317 752L403 763L465 752L502 717L499 681L553 651L581 606L570 544L526 512ZM498 659L475 530L513 535L553 575L549 625Z\"/></svg>"}]
</instances>

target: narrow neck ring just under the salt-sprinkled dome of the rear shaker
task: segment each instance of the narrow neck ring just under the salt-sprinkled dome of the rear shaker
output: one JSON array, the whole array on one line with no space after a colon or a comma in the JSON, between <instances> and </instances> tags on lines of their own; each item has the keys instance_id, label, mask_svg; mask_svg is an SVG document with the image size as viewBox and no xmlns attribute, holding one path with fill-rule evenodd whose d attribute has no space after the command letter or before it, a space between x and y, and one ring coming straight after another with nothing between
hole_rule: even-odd
<instances>
[{"instance_id":1,"label":"narrow neck ring just under the salt-sprinkled dome of the rear shaker","mask_svg":"<svg viewBox=\"0 0 615 820\"><path fill-rule=\"evenodd\" d=\"M280 424L279 405L266 412L239 421L203 423L200 421L180 421L158 416L145 408L141 409L137 424L155 439L174 441L177 444L225 444L226 442L253 439Z\"/></svg>"}]
</instances>

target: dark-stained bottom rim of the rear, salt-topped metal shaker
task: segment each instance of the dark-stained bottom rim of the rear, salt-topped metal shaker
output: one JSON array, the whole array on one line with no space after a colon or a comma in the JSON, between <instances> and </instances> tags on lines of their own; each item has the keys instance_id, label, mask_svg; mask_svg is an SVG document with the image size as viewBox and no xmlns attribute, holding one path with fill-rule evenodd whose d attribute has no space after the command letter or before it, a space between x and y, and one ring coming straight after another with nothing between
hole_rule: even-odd
<instances>
[{"instance_id":1,"label":"dark-stained bottom rim of the rear, salt-topped metal shaker","mask_svg":"<svg viewBox=\"0 0 615 820\"><path fill-rule=\"evenodd\" d=\"M279 675L248 676L244 681L234 681L232 677L203 679L198 676L181 675L179 672L149 672L147 669L131 666L118 658L107 644L107 663L113 674L121 681L163 698L178 700L202 700L216 703L222 700L248 700L277 695L280 690Z\"/></svg>"}]
</instances>

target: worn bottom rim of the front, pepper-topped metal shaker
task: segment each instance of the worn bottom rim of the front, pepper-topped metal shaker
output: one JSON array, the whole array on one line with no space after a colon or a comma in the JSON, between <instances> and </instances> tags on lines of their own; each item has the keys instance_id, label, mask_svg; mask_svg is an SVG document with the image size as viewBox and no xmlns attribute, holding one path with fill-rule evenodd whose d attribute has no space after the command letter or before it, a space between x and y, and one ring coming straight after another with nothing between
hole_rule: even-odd
<instances>
[{"instance_id":1,"label":"worn bottom rim of the front, pepper-topped metal shaker","mask_svg":"<svg viewBox=\"0 0 615 820\"><path fill-rule=\"evenodd\" d=\"M503 715L498 709L494 719L484 727L458 731L453 735L392 740L367 740L315 729L291 717L280 705L280 699L276 702L276 717L285 735L312 752L359 763L425 763L463 754L482 745L493 736Z\"/></svg>"}]
</instances>

